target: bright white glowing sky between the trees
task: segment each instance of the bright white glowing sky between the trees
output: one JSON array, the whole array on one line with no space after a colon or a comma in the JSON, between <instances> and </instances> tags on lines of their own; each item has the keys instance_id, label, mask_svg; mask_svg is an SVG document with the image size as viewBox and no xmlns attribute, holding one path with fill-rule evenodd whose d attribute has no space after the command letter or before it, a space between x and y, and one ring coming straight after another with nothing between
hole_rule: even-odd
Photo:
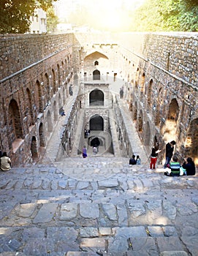
<instances>
[{"instance_id":1,"label":"bright white glowing sky between the trees","mask_svg":"<svg viewBox=\"0 0 198 256\"><path fill-rule=\"evenodd\" d=\"M118 31L129 26L129 12L145 0L58 0L58 18L66 23L85 23L98 29ZM81 10L81 11L79 11Z\"/></svg>"}]
</instances>

